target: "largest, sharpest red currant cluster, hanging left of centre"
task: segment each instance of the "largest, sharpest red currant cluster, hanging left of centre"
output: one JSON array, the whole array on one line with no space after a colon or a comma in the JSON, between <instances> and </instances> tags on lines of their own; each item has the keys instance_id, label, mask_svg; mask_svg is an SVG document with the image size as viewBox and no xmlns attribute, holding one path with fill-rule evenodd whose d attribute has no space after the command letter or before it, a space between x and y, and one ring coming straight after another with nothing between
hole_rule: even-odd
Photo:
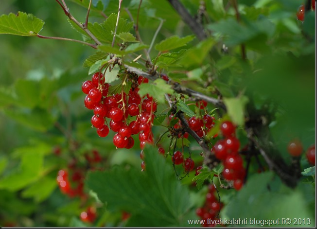
<instances>
[{"instance_id":1,"label":"largest, sharpest red currant cluster, hanging left of centre","mask_svg":"<svg viewBox=\"0 0 317 229\"><path fill-rule=\"evenodd\" d=\"M148 83L143 76L131 79L137 85L130 89L129 94L125 92L108 95L110 85L105 84L102 73L95 73L91 81L87 80L82 85L82 90L87 94L85 106L93 109L94 115L91 124L97 128L100 137L106 137L109 127L116 134L113 143L117 148L130 149L134 145L131 135L139 134L140 148L146 143L153 144L152 124L157 110L157 103L149 95L140 97L138 85ZM128 122L128 116L136 117L134 121ZM106 122L109 118L109 125ZM109 127L108 127L109 126Z\"/></svg>"}]
</instances>

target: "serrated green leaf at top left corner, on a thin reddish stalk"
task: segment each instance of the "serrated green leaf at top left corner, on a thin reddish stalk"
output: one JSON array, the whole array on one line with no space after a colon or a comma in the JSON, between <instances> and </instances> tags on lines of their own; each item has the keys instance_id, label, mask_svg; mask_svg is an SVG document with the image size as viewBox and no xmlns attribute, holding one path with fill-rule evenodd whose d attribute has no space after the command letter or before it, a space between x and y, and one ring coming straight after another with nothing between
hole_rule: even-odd
<instances>
[{"instance_id":1,"label":"serrated green leaf at top left corner, on a thin reddish stalk","mask_svg":"<svg viewBox=\"0 0 317 229\"><path fill-rule=\"evenodd\" d=\"M43 28L44 21L32 14L18 12L0 17L0 34L36 36Z\"/></svg>"}]
</instances>

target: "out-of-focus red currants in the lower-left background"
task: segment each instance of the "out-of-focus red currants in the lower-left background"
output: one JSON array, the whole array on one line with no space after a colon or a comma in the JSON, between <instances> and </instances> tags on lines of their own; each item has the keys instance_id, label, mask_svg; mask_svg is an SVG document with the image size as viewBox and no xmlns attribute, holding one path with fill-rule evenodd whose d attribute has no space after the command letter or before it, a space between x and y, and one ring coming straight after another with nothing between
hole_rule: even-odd
<instances>
[{"instance_id":1,"label":"out-of-focus red currants in the lower-left background","mask_svg":"<svg viewBox=\"0 0 317 229\"><path fill-rule=\"evenodd\" d=\"M88 195L84 192L84 179L87 169L95 170L98 168L98 163L102 161L97 150L92 150L90 153L85 154L86 163L79 164L76 159L73 159L66 169L58 171L56 180L59 189L63 194L69 197L80 197L82 202L88 199ZM86 211L81 212L80 218L83 222L92 223L96 219L96 208L88 206Z\"/></svg>"}]
</instances>

